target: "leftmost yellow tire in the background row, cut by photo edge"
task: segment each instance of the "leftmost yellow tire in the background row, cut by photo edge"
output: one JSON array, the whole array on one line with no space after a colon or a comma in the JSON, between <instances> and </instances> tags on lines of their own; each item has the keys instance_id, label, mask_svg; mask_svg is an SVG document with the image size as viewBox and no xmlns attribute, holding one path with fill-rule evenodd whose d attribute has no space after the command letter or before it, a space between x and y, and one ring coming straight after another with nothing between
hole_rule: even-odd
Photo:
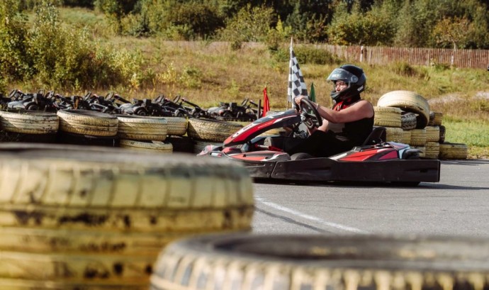
<instances>
[{"instance_id":1,"label":"leftmost yellow tire in the background row, cut by photo edge","mask_svg":"<svg viewBox=\"0 0 489 290\"><path fill-rule=\"evenodd\" d=\"M60 121L56 113L41 111L0 111L1 130L31 135L56 134Z\"/></svg>"}]
</instances>

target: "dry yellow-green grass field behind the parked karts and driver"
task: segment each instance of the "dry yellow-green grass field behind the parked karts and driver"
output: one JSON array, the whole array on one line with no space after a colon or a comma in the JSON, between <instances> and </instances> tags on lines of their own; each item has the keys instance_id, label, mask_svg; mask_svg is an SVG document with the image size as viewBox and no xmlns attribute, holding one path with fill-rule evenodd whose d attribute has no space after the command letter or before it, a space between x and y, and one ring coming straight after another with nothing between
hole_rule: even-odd
<instances>
[{"instance_id":1,"label":"dry yellow-green grass field behind the parked karts and driver","mask_svg":"<svg viewBox=\"0 0 489 290\"><path fill-rule=\"evenodd\" d=\"M89 88L97 94L116 91L126 99L181 95L209 108L220 101L239 104L245 98L259 101L267 87L272 110L283 110L287 106L288 43L283 43L280 48L286 52L286 57L283 54L277 57L265 45L257 43L245 43L240 50L231 50L227 43L115 36L106 18L87 9L60 9L60 16L66 23L91 31L101 45L140 54L144 60L142 73L153 76L136 87ZM296 55L301 50L317 55L317 51L301 44L294 45L294 50ZM316 100L331 106L332 87L325 77L332 69L349 61L321 65L302 62L300 58L298 61L308 87L315 84ZM489 137L485 136L489 136L489 72L485 69L422 67L403 62L388 65L351 63L364 68L367 86L363 95L374 106L388 91L415 91L428 100L431 111L444 113L447 142L466 143L470 146L471 158L488 157ZM26 83L16 87L32 88L33 85Z\"/></svg>"}]
</instances>

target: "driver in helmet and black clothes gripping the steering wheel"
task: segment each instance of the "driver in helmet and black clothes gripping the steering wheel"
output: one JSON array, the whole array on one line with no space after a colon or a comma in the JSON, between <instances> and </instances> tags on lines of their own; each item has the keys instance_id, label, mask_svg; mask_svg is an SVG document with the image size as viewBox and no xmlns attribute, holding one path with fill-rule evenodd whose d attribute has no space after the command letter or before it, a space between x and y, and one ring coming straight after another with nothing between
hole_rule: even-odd
<instances>
[{"instance_id":1,"label":"driver in helmet and black clothes gripping the steering wheel","mask_svg":"<svg viewBox=\"0 0 489 290\"><path fill-rule=\"evenodd\" d=\"M333 84L333 107L327 108L310 102L322 117L322 125L308 129L309 137L303 143L288 150L289 155L299 152L313 157L329 157L364 143L373 129L373 106L363 100L360 93L365 89L364 70L354 65L342 65L334 69L328 81ZM298 96L300 101L306 96Z\"/></svg>"}]
</instances>

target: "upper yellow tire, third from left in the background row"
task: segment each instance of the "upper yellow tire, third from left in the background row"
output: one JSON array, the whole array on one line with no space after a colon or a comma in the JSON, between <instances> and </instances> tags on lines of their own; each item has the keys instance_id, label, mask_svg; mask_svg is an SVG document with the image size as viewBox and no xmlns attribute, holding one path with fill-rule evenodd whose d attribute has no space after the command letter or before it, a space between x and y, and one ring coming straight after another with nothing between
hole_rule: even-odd
<instances>
[{"instance_id":1,"label":"upper yellow tire, third from left in the background row","mask_svg":"<svg viewBox=\"0 0 489 290\"><path fill-rule=\"evenodd\" d=\"M118 115L117 137L138 141L164 141L168 121L162 117Z\"/></svg>"}]
</instances>

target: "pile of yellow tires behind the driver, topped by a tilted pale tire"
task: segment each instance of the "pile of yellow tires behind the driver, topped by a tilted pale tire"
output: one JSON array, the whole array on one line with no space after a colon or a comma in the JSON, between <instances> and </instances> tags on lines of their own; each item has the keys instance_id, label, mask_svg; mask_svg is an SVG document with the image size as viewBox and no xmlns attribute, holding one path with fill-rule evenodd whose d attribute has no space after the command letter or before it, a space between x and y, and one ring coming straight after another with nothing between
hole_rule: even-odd
<instances>
[{"instance_id":1,"label":"pile of yellow tires behind the driver, topped by a tilted pale tire","mask_svg":"<svg viewBox=\"0 0 489 290\"><path fill-rule=\"evenodd\" d=\"M375 126L387 128L387 141L409 144L430 159L466 159L464 144L444 143L443 114L429 111L425 98L412 91L390 91L374 107ZM449 149L449 154L446 149Z\"/></svg>"}]
</instances>

